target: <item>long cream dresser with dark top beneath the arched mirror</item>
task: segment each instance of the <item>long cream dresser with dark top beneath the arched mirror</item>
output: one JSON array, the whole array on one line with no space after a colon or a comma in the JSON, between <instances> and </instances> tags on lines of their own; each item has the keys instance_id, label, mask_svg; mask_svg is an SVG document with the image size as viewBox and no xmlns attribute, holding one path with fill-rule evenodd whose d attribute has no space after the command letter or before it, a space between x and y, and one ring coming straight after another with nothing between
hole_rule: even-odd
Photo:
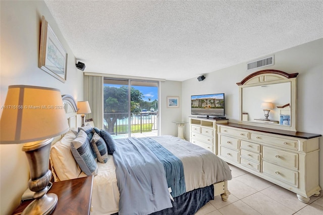
<instances>
[{"instance_id":1,"label":"long cream dresser with dark top beneath the arched mirror","mask_svg":"<svg viewBox=\"0 0 323 215\"><path fill-rule=\"evenodd\" d=\"M218 125L219 156L226 162L297 194L319 195L319 134L241 124Z\"/></svg>"}]
</instances>

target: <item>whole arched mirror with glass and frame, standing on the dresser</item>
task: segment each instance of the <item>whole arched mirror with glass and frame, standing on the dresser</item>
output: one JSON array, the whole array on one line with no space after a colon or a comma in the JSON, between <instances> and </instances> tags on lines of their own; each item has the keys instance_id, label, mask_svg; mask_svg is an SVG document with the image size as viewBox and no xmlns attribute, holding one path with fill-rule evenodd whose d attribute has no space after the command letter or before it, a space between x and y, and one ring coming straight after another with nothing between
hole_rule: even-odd
<instances>
[{"instance_id":1,"label":"whole arched mirror with glass and frame, standing on the dresser","mask_svg":"<svg viewBox=\"0 0 323 215\"><path fill-rule=\"evenodd\" d=\"M296 131L297 75L262 70L237 83L241 124Z\"/></svg>"}]
</instances>

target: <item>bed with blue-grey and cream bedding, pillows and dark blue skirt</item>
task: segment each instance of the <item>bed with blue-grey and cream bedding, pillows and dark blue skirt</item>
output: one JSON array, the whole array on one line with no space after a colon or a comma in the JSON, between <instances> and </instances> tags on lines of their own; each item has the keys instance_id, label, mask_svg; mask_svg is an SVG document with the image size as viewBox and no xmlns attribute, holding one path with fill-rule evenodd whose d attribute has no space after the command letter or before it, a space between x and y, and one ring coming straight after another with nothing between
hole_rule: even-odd
<instances>
[{"instance_id":1,"label":"bed with blue-grey and cream bedding, pillows and dark blue skirt","mask_svg":"<svg viewBox=\"0 0 323 215\"><path fill-rule=\"evenodd\" d=\"M53 180L94 175L92 215L194 214L214 196L228 199L231 171L215 154L170 135L113 140L109 133L90 125L78 128L73 97L62 98L71 129L52 143ZM95 161L80 161L75 149L78 143L89 141L91 145L99 139L104 140L106 152L98 152L104 144L92 145ZM90 165L82 163L84 160Z\"/></svg>"}]
</instances>

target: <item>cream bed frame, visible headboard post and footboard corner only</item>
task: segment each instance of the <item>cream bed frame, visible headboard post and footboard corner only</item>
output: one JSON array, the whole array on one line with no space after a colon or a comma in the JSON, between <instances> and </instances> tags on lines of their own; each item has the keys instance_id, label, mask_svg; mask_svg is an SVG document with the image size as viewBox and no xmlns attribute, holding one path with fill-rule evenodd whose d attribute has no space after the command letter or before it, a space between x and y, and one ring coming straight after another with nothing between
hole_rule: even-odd
<instances>
[{"instance_id":1,"label":"cream bed frame, visible headboard post and footboard corner only","mask_svg":"<svg viewBox=\"0 0 323 215\"><path fill-rule=\"evenodd\" d=\"M77 105L74 100L74 98L71 95L62 95L63 104L65 106L65 113L66 118L70 127L70 130L72 128L77 128ZM52 142L52 144L55 144L58 140L60 140L64 135L60 135L55 138L55 140ZM216 184L213 184L214 187L214 196L221 195L221 198L223 201L227 201L228 197L230 195L230 192L228 190L228 181L219 182Z\"/></svg>"}]
</instances>

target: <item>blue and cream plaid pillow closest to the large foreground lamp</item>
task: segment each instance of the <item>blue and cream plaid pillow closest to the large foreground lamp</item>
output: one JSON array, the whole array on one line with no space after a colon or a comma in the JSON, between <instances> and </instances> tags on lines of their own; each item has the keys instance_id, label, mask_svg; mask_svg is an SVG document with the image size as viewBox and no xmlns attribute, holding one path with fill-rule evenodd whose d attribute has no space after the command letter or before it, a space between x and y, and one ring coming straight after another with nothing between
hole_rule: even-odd
<instances>
[{"instance_id":1,"label":"blue and cream plaid pillow closest to the large foreground lamp","mask_svg":"<svg viewBox=\"0 0 323 215\"><path fill-rule=\"evenodd\" d=\"M97 174L97 164L93 156L90 140L87 134L80 130L71 142L72 154L81 170L88 176Z\"/></svg>"}]
</instances>

